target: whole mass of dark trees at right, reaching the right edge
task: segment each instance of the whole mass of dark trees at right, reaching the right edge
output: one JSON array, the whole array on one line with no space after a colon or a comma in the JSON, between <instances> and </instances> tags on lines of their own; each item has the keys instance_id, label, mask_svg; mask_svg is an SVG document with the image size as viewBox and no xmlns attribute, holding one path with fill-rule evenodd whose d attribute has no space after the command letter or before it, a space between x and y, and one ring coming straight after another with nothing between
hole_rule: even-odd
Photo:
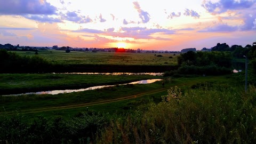
<instances>
[{"instance_id":1,"label":"whole mass of dark trees at right, reaching the right edge","mask_svg":"<svg viewBox=\"0 0 256 144\"><path fill-rule=\"evenodd\" d=\"M199 74L199 75L223 75L231 73L233 65L245 65L245 62L233 62L233 58L249 59L249 69L256 74L256 43L253 45L233 45L229 47L226 43L218 43L211 48L212 51L195 52L194 49L186 49L178 57L178 70L171 70L165 73L169 75Z\"/></svg>"}]
</instances>

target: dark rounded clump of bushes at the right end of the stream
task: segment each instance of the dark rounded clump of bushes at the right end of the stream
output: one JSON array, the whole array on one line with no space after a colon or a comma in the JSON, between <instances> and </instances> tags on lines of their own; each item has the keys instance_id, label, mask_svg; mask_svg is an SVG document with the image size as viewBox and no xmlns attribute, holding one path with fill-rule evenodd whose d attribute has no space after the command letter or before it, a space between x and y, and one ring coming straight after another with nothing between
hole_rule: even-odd
<instances>
[{"instance_id":1,"label":"dark rounded clump of bushes at the right end of the stream","mask_svg":"<svg viewBox=\"0 0 256 144\"><path fill-rule=\"evenodd\" d=\"M231 73L230 52L194 52L180 54L178 57L178 70L165 73L169 75L223 75Z\"/></svg>"}]
</instances>

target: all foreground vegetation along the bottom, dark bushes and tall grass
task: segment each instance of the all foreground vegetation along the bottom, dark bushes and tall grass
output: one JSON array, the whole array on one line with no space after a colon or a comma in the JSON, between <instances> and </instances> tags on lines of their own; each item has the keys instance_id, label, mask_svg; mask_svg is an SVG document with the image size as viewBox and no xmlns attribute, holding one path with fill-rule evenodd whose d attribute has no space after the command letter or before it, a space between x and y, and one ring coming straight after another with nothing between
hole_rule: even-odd
<instances>
[{"instance_id":1,"label":"all foreground vegetation along the bottom, dark bushes and tall grass","mask_svg":"<svg viewBox=\"0 0 256 144\"><path fill-rule=\"evenodd\" d=\"M151 100L132 113L85 112L73 118L21 114L0 118L3 143L253 143L256 89L198 83L173 87L162 102Z\"/></svg>"}]
</instances>

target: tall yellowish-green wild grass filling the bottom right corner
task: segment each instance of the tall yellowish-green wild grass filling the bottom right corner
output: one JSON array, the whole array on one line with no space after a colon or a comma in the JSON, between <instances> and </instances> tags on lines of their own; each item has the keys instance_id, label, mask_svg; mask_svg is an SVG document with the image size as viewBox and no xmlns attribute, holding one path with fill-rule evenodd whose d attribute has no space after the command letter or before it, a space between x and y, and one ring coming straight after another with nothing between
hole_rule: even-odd
<instances>
[{"instance_id":1,"label":"tall yellowish-green wild grass filling the bottom right corner","mask_svg":"<svg viewBox=\"0 0 256 144\"><path fill-rule=\"evenodd\" d=\"M180 94L169 90L146 113L113 121L98 143L253 143L256 141L256 89L208 87Z\"/></svg>"}]
</instances>

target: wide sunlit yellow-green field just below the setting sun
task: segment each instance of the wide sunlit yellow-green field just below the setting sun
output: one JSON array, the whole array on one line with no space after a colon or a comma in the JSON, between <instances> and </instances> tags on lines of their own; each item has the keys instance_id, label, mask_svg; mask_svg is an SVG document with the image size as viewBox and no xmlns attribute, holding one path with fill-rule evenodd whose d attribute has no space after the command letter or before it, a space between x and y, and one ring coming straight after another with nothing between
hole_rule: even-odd
<instances>
[{"instance_id":1,"label":"wide sunlit yellow-green field just below the setting sun","mask_svg":"<svg viewBox=\"0 0 256 144\"><path fill-rule=\"evenodd\" d=\"M18 54L35 55L35 52L16 51ZM163 57L157 57L162 55ZM114 52L78 52L57 50L38 51L38 56L58 64L90 64L90 65L177 65L179 54L170 53L114 53ZM173 57L173 58L169 58Z\"/></svg>"}]
</instances>

